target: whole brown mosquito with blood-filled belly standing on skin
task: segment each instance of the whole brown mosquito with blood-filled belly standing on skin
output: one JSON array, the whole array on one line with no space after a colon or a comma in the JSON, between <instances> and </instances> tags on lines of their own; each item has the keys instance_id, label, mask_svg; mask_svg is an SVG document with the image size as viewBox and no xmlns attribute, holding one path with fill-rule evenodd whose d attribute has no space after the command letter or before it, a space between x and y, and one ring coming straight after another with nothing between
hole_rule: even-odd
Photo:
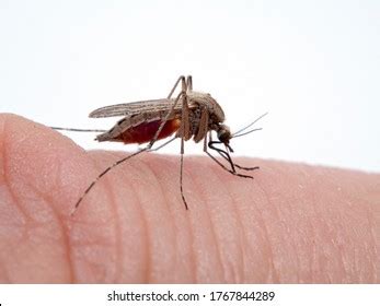
<instances>
[{"instance_id":1,"label":"whole brown mosquito with blood-filled belly standing on skin","mask_svg":"<svg viewBox=\"0 0 380 306\"><path fill-rule=\"evenodd\" d=\"M180 84L181 92L173 98L172 96ZM184 142L192 138L196 143L203 140L204 152L224 170L234 176L252 179L253 176L241 174L237 168L242 170L256 170L258 169L258 166L243 167L235 164L230 155L230 153L233 152L230 145L230 140L232 138L261 130L261 128L247 129L265 115L267 115L267 113L260 116L243 129L231 133L230 128L223 123L226 116L216 99L208 93L193 91L193 78L191 75L187 78L181 75L166 98L110 105L90 113L90 118L123 116L123 118L110 130L51 127L56 130L101 132L101 134L95 138L97 141L118 141L125 144L148 143L145 148L116 161L99 174L77 201L71 211L71 215L78 210L85 196L106 173L138 154L157 151L177 138L181 139L180 190L186 210L188 210L188 205L183 192L183 155L185 152ZM217 133L218 140L216 141L212 140L212 131ZM173 137L169 141L153 149L153 144L158 140L171 136ZM222 145L223 149L220 148L220 145ZM226 160L228 166L217 160L208 149L217 152L223 160Z\"/></svg>"}]
</instances>

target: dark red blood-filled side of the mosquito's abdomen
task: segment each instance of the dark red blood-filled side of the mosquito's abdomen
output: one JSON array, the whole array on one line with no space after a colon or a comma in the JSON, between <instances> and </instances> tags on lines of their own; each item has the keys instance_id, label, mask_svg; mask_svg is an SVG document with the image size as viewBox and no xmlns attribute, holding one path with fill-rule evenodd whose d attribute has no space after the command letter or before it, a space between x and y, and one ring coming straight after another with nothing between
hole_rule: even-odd
<instances>
[{"instance_id":1,"label":"dark red blood-filled side of the mosquito's abdomen","mask_svg":"<svg viewBox=\"0 0 380 306\"><path fill-rule=\"evenodd\" d=\"M124 131L123 133L120 133L117 138L115 138L115 141L123 141L126 144L149 142L153 139L156 132L160 128L161 122L162 122L161 120L145 122L137 127L130 128ZM158 140L170 137L180 128L180 125L181 125L180 119L168 120L165 125L163 126L158 137Z\"/></svg>"}]
</instances>

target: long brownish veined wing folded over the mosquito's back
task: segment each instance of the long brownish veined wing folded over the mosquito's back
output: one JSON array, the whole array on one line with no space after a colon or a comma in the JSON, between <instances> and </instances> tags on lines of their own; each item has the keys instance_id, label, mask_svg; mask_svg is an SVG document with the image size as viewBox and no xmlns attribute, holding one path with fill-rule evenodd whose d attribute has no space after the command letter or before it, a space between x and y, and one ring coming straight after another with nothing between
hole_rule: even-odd
<instances>
[{"instance_id":1,"label":"long brownish veined wing folded over the mosquito's back","mask_svg":"<svg viewBox=\"0 0 380 306\"><path fill-rule=\"evenodd\" d=\"M160 98L160 99L149 99L149 101L115 104L115 105L97 108L91 111L89 117L90 118L105 118L105 117L115 117L115 116L130 117L137 114L169 110L171 109L173 104L174 104L174 99L172 98ZM179 103L174 107L174 111L177 113L181 109L182 109L182 101L179 101Z\"/></svg>"}]
</instances>

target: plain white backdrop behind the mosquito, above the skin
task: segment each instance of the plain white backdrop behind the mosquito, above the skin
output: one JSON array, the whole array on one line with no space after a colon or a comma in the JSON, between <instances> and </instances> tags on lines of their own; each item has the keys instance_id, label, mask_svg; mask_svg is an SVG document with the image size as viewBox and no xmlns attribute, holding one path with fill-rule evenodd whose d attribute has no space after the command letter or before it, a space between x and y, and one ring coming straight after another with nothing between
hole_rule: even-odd
<instances>
[{"instance_id":1,"label":"plain white backdrop behind the mosquito, above the skin","mask_svg":"<svg viewBox=\"0 0 380 306\"><path fill-rule=\"evenodd\" d=\"M0 0L0 44L1 113L110 128L88 114L193 74L232 130L269 111L235 154L380 170L380 1Z\"/></svg>"}]
</instances>

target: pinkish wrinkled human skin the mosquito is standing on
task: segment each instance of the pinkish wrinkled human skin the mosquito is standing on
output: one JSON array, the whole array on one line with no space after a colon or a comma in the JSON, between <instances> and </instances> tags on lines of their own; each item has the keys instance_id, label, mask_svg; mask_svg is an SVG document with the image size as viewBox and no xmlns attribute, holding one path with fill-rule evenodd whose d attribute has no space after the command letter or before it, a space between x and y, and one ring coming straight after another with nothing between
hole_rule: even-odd
<instances>
[{"instance_id":1,"label":"pinkish wrinkled human skin the mosquito is standing on","mask_svg":"<svg viewBox=\"0 0 380 306\"><path fill-rule=\"evenodd\" d=\"M379 283L380 175L275 161L87 152L0 115L2 283Z\"/></svg>"}]
</instances>

